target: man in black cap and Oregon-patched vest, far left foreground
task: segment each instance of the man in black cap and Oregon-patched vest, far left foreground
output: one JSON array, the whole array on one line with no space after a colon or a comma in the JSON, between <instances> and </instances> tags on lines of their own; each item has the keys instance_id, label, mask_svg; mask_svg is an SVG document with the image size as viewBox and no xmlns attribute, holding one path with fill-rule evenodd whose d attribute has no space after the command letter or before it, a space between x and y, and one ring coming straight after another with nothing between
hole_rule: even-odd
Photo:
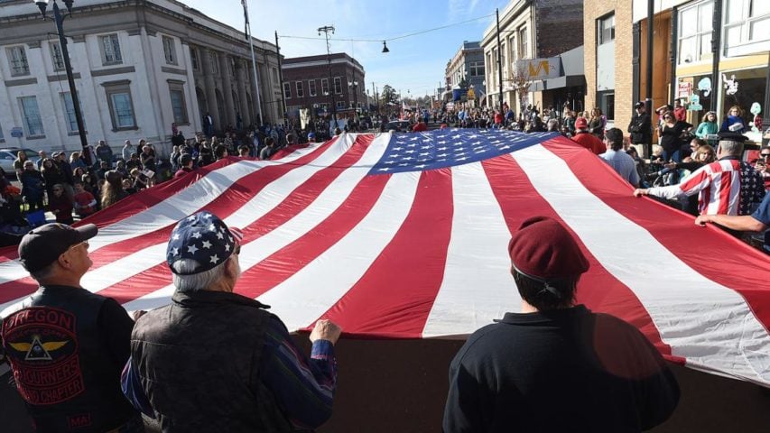
<instances>
[{"instance_id":1,"label":"man in black cap and Oregon-patched vest, far left foreground","mask_svg":"<svg viewBox=\"0 0 770 433\"><path fill-rule=\"evenodd\" d=\"M36 431L144 431L120 390L134 321L115 299L80 286L95 235L93 224L47 224L19 244L40 289L2 313L0 339Z\"/></svg>"}]
</instances>

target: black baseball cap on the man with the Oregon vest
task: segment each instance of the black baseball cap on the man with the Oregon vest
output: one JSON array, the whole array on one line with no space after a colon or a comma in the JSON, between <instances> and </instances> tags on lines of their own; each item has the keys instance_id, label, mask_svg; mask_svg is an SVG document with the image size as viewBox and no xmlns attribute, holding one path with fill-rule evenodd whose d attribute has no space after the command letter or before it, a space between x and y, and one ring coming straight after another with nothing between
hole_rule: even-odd
<instances>
[{"instance_id":1,"label":"black baseball cap on the man with the Oregon vest","mask_svg":"<svg viewBox=\"0 0 770 433\"><path fill-rule=\"evenodd\" d=\"M97 226L70 227L51 223L32 229L19 244L19 262L28 272L38 272L56 261L70 246L97 235Z\"/></svg>"}]
</instances>

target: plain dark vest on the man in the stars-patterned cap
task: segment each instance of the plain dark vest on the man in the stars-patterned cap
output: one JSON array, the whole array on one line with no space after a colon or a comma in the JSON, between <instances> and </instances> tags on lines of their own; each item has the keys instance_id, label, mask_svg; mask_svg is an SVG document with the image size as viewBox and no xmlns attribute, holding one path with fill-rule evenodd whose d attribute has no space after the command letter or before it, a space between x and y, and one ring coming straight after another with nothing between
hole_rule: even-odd
<instances>
[{"instance_id":1,"label":"plain dark vest on the man in the stars-patterned cap","mask_svg":"<svg viewBox=\"0 0 770 433\"><path fill-rule=\"evenodd\" d=\"M131 356L164 432L293 431L260 380L271 314L235 293L174 293L137 320Z\"/></svg>"}]
</instances>

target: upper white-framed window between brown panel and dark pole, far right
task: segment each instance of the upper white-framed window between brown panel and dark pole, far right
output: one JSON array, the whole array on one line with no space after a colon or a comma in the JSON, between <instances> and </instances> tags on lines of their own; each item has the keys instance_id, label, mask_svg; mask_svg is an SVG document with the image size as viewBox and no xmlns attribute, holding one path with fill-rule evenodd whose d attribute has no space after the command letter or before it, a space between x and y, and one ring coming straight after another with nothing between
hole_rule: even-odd
<instances>
[{"instance_id":1,"label":"upper white-framed window between brown panel and dark pole, far right","mask_svg":"<svg viewBox=\"0 0 770 433\"><path fill-rule=\"evenodd\" d=\"M701 3L679 13L679 64L703 60L711 52L713 2Z\"/></svg>"}]
</instances>

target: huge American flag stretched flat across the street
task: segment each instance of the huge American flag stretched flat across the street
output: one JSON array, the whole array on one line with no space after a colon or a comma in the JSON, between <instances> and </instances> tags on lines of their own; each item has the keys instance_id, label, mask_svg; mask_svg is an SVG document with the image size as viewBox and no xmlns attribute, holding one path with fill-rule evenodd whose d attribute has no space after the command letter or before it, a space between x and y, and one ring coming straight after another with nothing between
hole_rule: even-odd
<instances>
[{"instance_id":1,"label":"huge American flag stretched flat across the street","mask_svg":"<svg viewBox=\"0 0 770 433\"><path fill-rule=\"evenodd\" d=\"M458 338L518 311L506 246L527 217L560 220L590 271L578 301L624 318L673 360L770 385L767 256L632 189L555 134L343 134L274 161L230 158L90 217L83 287L128 310L169 303L174 224L201 209L244 232L237 292L292 330ZM0 259L0 310L36 289Z\"/></svg>"}]
</instances>

